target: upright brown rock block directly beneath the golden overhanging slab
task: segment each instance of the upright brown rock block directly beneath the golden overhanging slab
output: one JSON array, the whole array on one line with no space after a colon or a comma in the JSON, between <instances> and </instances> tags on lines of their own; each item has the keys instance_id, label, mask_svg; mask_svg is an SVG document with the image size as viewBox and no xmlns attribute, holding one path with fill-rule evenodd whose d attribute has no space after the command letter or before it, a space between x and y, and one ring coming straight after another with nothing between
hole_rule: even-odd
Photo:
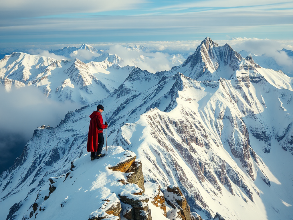
<instances>
[{"instance_id":1,"label":"upright brown rock block directly beneath the golden overhanging slab","mask_svg":"<svg viewBox=\"0 0 293 220\"><path fill-rule=\"evenodd\" d=\"M134 161L129 169L126 171L130 174L127 176L127 181L135 183L144 192L144 175L142 173L142 163L140 160Z\"/></svg>"}]
</instances>

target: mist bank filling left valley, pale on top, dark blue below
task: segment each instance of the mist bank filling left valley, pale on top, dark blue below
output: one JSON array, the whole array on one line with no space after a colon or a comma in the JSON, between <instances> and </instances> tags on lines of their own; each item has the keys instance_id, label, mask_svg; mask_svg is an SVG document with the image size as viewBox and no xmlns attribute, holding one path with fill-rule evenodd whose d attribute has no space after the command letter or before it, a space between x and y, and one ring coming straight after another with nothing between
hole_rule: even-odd
<instances>
[{"instance_id":1,"label":"mist bank filling left valley, pale on top, dark blue below","mask_svg":"<svg viewBox=\"0 0 293 220\"><path fill-rule=\"evenodd\" d=\"M6 92L0 85L0 94L0 173L21 155L34 129L42 125L55 127L68 111L81 107L48 99L32 86Z\"/></svg>"}]
</instances>

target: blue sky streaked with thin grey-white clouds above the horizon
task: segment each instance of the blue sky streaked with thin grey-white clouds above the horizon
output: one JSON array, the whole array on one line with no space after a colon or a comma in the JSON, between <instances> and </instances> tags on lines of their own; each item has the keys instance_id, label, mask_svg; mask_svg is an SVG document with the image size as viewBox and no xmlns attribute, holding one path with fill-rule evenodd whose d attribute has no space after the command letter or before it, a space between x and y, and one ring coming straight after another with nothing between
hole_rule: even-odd
<instances>
[{"instance_id":1,"label":"blue sky streaked with thin grey-white clouds above the horizon","mask_svg":"<svg viewBox=\"0 0 293 220\"><path fill-rule=\"evenodd\" d=\"M292 40L292 12L292 0L1 0L0 47L207 36Z\"/></svg>"}]
</instances>

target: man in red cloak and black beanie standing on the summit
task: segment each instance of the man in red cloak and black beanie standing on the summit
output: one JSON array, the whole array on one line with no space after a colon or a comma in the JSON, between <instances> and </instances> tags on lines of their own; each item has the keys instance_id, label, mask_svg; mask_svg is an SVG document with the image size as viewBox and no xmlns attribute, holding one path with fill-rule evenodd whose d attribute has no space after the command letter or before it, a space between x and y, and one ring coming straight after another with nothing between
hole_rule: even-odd
<instances>
[{"instance_id":1,"label":"man in red cloak and black beanie standing on the summit","mask_svg":"<svg viewBox=\"0 0 293 220\"><path fill-rule=\"evenodd\" d=\"M94 111L91 115L90 127L88 129L88 147L87 151L91 152L91 160L101 158L105 156L102 154L102 148L104 145L103 129L108 128L107 122L103 124L102 112L104 106L98 105L97 111Z\"/></svg>"}]
</instances>

